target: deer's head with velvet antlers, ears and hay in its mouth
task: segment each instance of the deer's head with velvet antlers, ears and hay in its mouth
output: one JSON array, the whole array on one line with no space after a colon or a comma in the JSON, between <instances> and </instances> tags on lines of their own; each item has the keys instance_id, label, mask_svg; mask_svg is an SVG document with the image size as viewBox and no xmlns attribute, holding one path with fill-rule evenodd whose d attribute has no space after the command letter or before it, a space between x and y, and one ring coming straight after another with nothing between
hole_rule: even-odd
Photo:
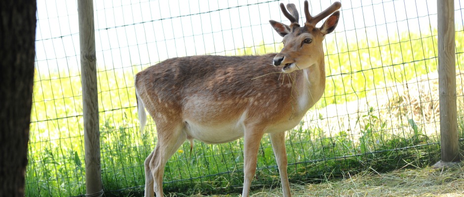
<instances>
[{"instance_id":1,"label":"deer's head with velvet antlers, ears and hay in its mouth","mask_svg":"<svg viewBox=\"0 0 464 197\"><path fill-rule=\"evenodd\" d=\"M282 71L289 73L298 69L305 69L316 64L318 61L323 61L324 51L322 48L322 40L326 34L331 33L337 27L340 18L338 10L342 4L340 2L333 3L326 10L316 16L309 14L308 1L305 0L305 16L306 22L301 27L298 23L299 15L295 4L287 4L285 9L283 3L280 3L280 9L283 15L290 20L290 25L285 25L277 21L270 20L274 30L283 37L283 48L273 60L274 66L283 66ZM333 14L332 14L333 13ZM321 27L316 27L316 24L332 14Z\"/></svg>"}]
</instances>

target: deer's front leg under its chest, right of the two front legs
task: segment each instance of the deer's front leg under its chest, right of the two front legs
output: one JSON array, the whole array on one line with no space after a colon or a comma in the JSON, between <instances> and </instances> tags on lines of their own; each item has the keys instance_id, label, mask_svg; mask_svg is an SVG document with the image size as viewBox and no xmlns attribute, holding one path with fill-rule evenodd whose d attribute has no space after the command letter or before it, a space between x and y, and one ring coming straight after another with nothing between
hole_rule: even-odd
<instances>
[{"instance_id":1,"label":"deer's front leg under its chest, right of the two front legs","mask_svg":"<svg viewBox=\"0 0 464 197\"><path fill-rule=\"evenodd\" d=\"M280 182L282 183L282 193L284 197L291 197L290 185L287 176L287 152L285 151L285 131L279 133L269 133L271 137L272 150L274 151L275 162L279 168Z\"/></svg>"}]
</instances>

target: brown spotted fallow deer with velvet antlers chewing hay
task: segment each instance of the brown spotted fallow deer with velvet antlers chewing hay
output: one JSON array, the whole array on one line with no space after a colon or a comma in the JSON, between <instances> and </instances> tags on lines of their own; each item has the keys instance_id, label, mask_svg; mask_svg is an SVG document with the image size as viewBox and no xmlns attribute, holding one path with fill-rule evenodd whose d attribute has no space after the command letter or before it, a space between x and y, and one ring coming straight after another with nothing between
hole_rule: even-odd
<instances>
[{"instance_id":1,"label":"brown spotted fallow deer with velvet antlers chewing hay","mask_svg":"<svg viewBox=\"0 0 464 197\"><path fill-rule=\"evenodd\" d=\"M193 139L225 143L244 137L242 197L248 197L260 141L269 133L282 193L290 197L285 131L297 126L324 93L322 41L337 26L340 7L335 2L313 17L305 1L301 27L296 6L287 4L287 11L280 3L290 25L269 21L283 37L284 47L277 54L172 58L137 73L140 130L146 124L146 108L158 137L145 160L145 196L163 196L164 166L186 139L191 144Z\"/></svg>"}]
</instances>

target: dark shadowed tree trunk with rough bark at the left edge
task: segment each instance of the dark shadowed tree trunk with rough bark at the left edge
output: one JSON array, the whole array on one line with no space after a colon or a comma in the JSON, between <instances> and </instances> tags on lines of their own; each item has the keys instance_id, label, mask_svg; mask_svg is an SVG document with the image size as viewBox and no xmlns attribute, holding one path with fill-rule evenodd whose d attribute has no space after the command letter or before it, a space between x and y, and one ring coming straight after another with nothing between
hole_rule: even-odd
<instances>
[{"instance_id":1,"label":"dark shadowed tree trunk with rough bark at the left edge","mask_svg":"<svg viewBox=\"0 0 464 197\"><path fill-rule=\"evenodd\" d=\"M36 0L0 0L0 197L24 196L36 10Z\"/></svg>"}]
</instances>

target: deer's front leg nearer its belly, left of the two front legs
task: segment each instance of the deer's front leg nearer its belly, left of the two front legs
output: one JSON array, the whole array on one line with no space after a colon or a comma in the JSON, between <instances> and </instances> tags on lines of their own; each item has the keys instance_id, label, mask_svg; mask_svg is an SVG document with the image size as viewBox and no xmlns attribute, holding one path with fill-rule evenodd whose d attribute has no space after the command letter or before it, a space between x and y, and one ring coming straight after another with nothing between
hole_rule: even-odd
<instances>
[{"instance_id":1,"label":"deer's front leg nearer its belly, left of the two front legs","mask_svg":"<svg viewBox=\"0 0 464 197\"><path fill-rule=\"evenodd\" d=\"M248 197L250 193L251 181L255 176L256 162L258 160L258 149L260 146L261 138L263 137L263 129L252 128L245 129L244 136L244 150L243 150L243 162L244 162L244 181L242 197Z\"/></svg>"}]
</instances>

